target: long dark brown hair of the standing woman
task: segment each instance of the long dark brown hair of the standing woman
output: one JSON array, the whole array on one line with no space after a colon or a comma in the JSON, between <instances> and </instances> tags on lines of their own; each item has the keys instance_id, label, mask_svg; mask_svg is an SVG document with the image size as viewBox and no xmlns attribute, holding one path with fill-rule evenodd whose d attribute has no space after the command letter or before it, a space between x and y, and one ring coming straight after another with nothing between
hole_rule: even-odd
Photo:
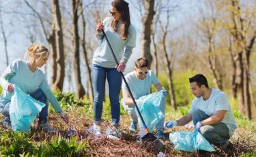
<instances>
[{"instance_id":1,"label":"long dark brown hair of the standing woman","mask_svg":"<svg viewBox=\"0 0 256 157\"><path fill-rule=\"evenodd\" d=\"M129 3L127 3L124 0L115 0L112 1L111 5L117 9L118 12L120 12L122 22L121 23L121 38L122 40L126 40L128 38L128 29L130 26L130 10L129 10ZM115 32L117 32L118 27L118 21L112 20L111 21L111 27L114 29Z\"/></svg>"}]
</instances>

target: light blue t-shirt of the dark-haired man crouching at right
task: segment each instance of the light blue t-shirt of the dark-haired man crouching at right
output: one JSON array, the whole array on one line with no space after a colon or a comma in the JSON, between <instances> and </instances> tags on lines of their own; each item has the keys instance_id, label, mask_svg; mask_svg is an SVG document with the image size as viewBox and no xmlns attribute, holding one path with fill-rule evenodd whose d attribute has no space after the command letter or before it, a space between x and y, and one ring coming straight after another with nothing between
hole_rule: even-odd
<instances>
[{"instance_id":1,"label":"light blue t-shirt of the dark-haired man crouching at right","mask_svg":"<svg viewBox=\"0 0 256 157\"><path fill-rule=\"evenodd\" d=\"M204 111L209 117L215 115L216 111L226 110L227 113L221 122L229 128L230 137L233 135L235 129L238 128L229 100L223 91L212 89L212 94L208 100L203 100L202 96L200 98L194 98L188 113L192 114L196 109Z\"/></svg>"}]
</instances>

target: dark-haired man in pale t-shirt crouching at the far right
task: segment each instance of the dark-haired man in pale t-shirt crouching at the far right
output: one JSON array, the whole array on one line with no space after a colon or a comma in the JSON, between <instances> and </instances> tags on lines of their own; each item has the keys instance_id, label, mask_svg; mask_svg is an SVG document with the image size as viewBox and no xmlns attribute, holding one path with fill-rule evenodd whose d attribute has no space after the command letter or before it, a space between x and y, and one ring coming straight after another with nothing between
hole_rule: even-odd
<instances>
[{"instance_id":1,"label":"dark-haired man in pale t-shirt crouching at the far right","mask_svg":"<svg viewBox=\"0 0 256 157\"><path fill-rule=\"evenodd\" d=\"M191 91L196 97L188 113L177 121L166 122L165 128L184 126L192 120L195 131L201 132L210 143L222 149L231 149L232 143L229 139L237 124L226 94L209 88L203 74L196 74L189 78L189 82Z\"/></svg>"}]
</instances>

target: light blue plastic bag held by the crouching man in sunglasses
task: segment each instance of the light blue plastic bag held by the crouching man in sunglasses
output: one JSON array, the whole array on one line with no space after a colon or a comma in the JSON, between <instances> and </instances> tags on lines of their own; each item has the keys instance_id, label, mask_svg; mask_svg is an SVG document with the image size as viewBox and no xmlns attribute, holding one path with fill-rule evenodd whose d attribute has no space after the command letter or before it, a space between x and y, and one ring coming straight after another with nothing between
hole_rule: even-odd
<instances>
[{"instance_id":1,"label":"light blue plastic bag held by the crouching man in sunglasses","mask_svg":"<svg viewBox=\"0 0 256 157\"><path fill-rule=\"evenodd\" d=\"M156 126L156 124L165 117L164 113L159 109L161 105L165 105L165 97L162 96L162 92L164 91L158 91L148 96L142 96L139 98L139 102L137 103L139 111L141 112L145 124L150 132L152 132L154 126ZM139 117L137 110L136 113ZM144 128L142 127L143 123L141 122L141 118L138 119L140 128Z\"/></svg>"}]
</instances>

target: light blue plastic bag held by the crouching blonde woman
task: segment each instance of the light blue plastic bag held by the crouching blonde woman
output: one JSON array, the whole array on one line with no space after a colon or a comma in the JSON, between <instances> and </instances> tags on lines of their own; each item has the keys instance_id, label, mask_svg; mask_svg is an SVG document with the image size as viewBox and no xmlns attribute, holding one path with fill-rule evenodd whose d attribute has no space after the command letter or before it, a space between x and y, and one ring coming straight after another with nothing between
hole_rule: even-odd
<instances>
[{"instance_id":1,"label":"light blue plastic bag held by the crouching blonde woman","mask_svg":"<svg viewBox=\"0 0 256 157\"><path fill-rule=\"evenodd\" d=\"M30 124L44 106L44 103L38 102L14 85L14 96L9 109L12 130L29 132Z\"/></svg>"}]
</instances>

